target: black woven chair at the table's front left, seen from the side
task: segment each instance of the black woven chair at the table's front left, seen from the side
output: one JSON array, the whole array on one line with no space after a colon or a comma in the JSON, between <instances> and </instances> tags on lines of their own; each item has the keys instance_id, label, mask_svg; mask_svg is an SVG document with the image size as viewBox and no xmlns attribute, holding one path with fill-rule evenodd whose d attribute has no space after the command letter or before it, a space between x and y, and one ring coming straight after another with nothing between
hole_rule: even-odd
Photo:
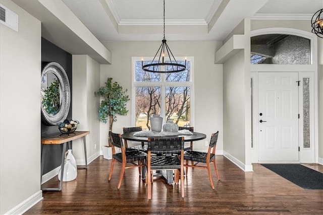
<instances>
[{"instance_id":1,"label":"black woven chair at the table's front left, seen from the side","mask_svg":"<svg viewBox=\"0 0 323 215\"><path fill-rule=\"evenodd\" d=\"M122 137L120 133L113 133L109 131L111 145L112 145L112 163L109 173L109 181L111 180L113 168L115 165L115 161L119 161L122 163L122 168L120 172L120 179L118 183L118 189L121 187L123 175L125 173L125 169L129 168L139 168L139 175L141 174L141 168L145 166L145 160L147 158L147 154L138 151L126 151L125 145L123 144ZM121 148L121 153L116 153L116 147ZM137 162L137 163L135 163ZM131 166L126 166L127 164L131 164Z\"/></svg>"}]
</instances>

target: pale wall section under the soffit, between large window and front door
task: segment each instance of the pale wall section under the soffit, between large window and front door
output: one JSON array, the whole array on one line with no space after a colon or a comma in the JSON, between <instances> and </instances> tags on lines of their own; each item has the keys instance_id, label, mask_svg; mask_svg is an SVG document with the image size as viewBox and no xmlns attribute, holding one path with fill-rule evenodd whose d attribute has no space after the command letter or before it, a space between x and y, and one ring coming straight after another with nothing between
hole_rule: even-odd
<instances>
[{"instance_id":1,"label":"pale wall section under the soffit, between large window and front door","mask_svg":"<svg viewBox=\"0 0 323 215\"><path fill-rule=\"evenodd\" d=\"M245 163L244 50L223 64L224 151Z\"/></svg>"}]
</instances>

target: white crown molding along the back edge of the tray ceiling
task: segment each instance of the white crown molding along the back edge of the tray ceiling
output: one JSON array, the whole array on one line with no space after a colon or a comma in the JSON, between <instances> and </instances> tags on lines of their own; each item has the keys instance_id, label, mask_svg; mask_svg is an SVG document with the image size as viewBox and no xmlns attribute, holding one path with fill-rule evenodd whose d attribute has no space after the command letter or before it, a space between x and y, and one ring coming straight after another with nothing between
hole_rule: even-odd
<instances>
[{"instance_id":1,"label":"white crown molding along the back edge of the tray ceiling","mask_svg":"<svg viewBox=\"0 0 323 215\"><path fill-rule=\"evenodd\" d=\"M123 19L119 25L163 25L164 20L128 20ZM207 25L203 19L195 20L165 20L165 25Z\"/></svg>"}]
</instances>

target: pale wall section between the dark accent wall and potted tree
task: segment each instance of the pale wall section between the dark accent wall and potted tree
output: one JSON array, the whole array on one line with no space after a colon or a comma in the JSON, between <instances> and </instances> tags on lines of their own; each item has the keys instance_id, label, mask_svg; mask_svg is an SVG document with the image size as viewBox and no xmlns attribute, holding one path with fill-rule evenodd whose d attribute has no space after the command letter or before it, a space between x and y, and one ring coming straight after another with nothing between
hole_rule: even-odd
<instances>
[{"instance_id":1,"label":"pale wall section between the dark accent wall and potted tree","mask_svg":"<svg viewBox=\"0 0 323 215\"><path fill-rule=\"evenodd\" d=\"M89 163L100 154L99 98L94 96L100 85L100 64L88 55L73 55L72 68L72 118L80 122L77 130L90 131L86 136ZM85 165L83 138L73 140L73 155L78 165Z\"/></svg>"}]
</instances>

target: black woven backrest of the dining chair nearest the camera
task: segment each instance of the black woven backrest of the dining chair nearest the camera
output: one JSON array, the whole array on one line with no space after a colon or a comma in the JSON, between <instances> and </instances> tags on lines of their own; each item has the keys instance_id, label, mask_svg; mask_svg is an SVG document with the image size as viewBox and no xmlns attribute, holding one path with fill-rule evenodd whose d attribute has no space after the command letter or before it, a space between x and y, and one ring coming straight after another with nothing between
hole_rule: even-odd
<instances>
[{"instance_id":1,"label":"black woven backrest of the dining chair nearest the camera","mask_svg":"<svg viewBox=\"0 0 323 215\"><path fill-rule=\"evenodd\" d=\"M184 137L148 137L148 152L178 154L184 150Z\"/></svg>"}]
</instances>

